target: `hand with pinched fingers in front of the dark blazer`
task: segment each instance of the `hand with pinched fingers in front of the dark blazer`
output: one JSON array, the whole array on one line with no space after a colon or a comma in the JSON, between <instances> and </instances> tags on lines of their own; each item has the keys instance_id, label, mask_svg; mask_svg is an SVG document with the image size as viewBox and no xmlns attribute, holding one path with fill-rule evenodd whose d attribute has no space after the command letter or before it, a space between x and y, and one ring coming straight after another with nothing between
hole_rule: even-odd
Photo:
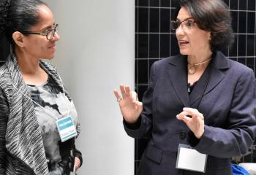
<instances>
[{"instance_id":1,"label":"hand with pinched fingers in front of the dark blazer","mask_svg":"<svg viewBox=\"0 0 256 175\"><path fill-rule=\"evenodd\" d=\"M195 134L197 139L200 139L204 133L203 114L193 108L183 108L183 112L177 114L177 119L184 121L189 129Z\"/></svg>"}]
</instances>

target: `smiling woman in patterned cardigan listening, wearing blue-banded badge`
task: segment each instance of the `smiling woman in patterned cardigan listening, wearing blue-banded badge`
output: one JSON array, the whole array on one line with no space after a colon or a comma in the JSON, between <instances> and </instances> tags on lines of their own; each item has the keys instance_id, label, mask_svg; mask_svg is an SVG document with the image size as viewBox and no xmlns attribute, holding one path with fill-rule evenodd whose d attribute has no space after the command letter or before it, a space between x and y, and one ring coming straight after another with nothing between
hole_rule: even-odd
<instances>
[{"instance_id":1,"label":"smiling woman in patterned cardigan listening, wearing blue-banded badge","mask_svg":"<svg viewBox=\"0 0 256 175\"><path fill-rule=\"evenodd\" d=\"M75 174L78 114L50 60L58 24L39 0L0 2L10 54L0 68L0 174ZM8 45L8 44L7 44Z\"/></svg>"}]
</instances>

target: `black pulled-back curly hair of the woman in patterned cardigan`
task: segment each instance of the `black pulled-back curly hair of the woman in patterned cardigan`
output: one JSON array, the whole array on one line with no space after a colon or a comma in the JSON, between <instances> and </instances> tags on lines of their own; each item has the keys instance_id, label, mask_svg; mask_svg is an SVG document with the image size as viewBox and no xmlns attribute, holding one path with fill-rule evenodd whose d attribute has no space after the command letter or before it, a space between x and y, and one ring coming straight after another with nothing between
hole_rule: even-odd
<instances>
[{"instance_id":1,"label":"black pulled-back curly hair of the woman in patterned cardigan","mask_svg":"<svg viewBox=\"0 0 256 175\"><path fill-rule=\"evenodd\" d=\"M15 31L29 31L39 23L38 9L41 5L46 4L40 0L0 1L0 47L6 47L1 48L2 51L9 50L10 44L14 46L12 34Z\"/></svg>"}]
</instances>

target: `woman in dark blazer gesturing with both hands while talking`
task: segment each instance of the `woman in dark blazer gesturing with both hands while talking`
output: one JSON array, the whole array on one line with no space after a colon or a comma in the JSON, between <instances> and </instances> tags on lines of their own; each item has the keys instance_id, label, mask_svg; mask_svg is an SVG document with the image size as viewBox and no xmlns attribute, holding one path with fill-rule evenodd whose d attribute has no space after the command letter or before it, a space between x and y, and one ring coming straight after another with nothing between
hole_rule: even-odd
<instances>
[{"instance_id":1,"label":"woman in dark blazer gesturing with both hands while talking","mask_svg":"<svg viewBox=\"0 0 256 175\"><path fill-rule=\"evenodd\" d=\"M176 18L180 55L156 61L143 103L129 86L114 90L124 128L149 142L139 175L231 175L230 158L255 140L255 77L225 57L233 43L222 0L181 0Z\"/></svg>"}]
</instances>

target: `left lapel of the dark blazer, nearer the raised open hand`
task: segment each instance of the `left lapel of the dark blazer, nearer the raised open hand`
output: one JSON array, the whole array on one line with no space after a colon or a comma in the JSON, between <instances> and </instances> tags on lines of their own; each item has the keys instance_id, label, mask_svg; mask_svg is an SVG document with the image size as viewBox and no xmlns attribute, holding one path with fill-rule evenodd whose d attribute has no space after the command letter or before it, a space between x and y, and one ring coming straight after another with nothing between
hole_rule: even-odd
<instances>
[{"instance_id":1,"label":"left lapel of the dark blazer, nearer the raised open hand","mask_svg":"<svg viewBox=\"0 0 256 175\"><path fill-rule=\"evenodd\" d=\"M184 106L189 106L189 94L187 93L187 56L178 55L170 59L168 71L170 83Z\"/></svg>"}]
</instances>

